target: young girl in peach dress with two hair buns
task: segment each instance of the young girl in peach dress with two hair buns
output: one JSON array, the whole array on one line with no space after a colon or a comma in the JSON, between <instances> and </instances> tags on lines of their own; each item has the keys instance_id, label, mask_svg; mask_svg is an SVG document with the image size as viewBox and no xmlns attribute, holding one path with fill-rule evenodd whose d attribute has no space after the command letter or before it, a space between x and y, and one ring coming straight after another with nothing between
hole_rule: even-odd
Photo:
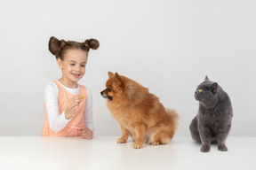
<instances>
[{"instance_id":1,"label":"young girl in peach dress with two hair buns","mask_svg":"<svg viewBox=\"0 0 256 170\"><path fill-rule=\"evenodd\" d=\"M62 77L44 89L44 127L46 136L83 136L92 139L92 92L77 83L85 73L88 52L100 43L58 40L51 37L49 50L56 57Z\"/></svg>"}]
</instances>

